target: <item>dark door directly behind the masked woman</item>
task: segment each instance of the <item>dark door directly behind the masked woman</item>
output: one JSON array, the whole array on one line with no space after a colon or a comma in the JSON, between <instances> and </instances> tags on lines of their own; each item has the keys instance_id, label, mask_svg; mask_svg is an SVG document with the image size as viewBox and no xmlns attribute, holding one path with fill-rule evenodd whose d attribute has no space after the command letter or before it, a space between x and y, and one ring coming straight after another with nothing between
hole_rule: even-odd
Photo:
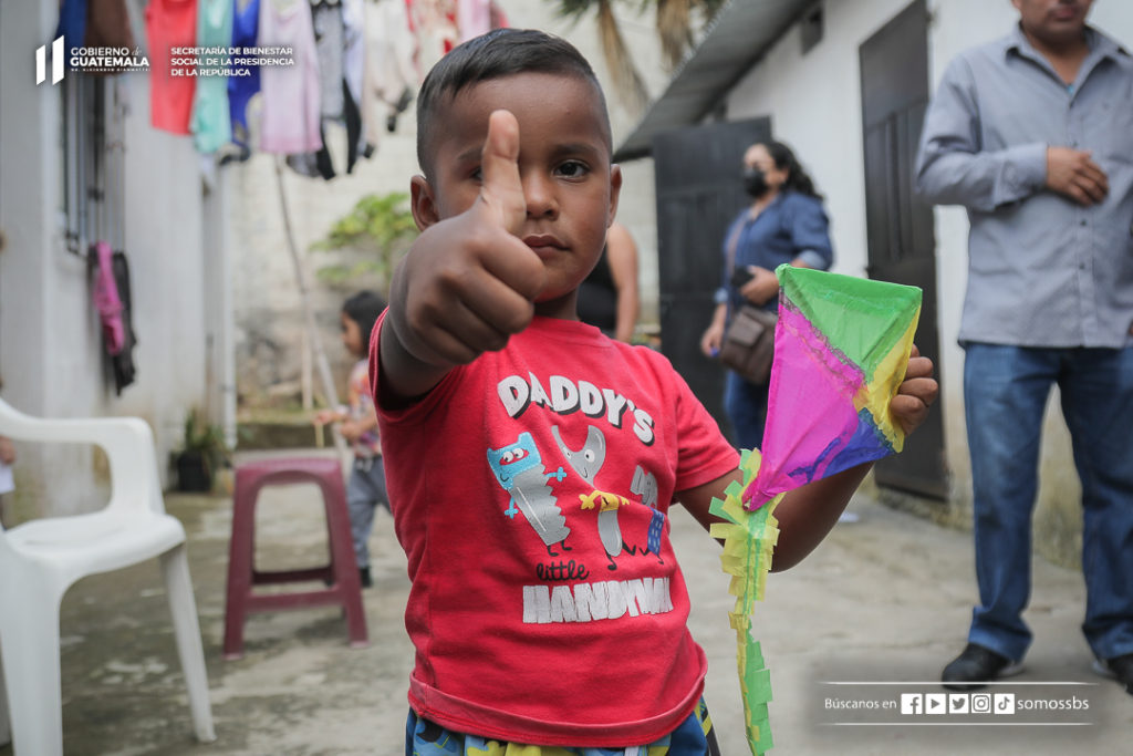
<instances>
[{"instance_id":1,"label":"dark door directly behind the masked woman","mask_svg":"<svg viewBox=\"0 0 1133 756\"><path fill-rule=\"evenodd\" d=\"M731 435L723 410L724 369L700 352L721 283L727 224L751 202L744 151L769 139L769 118L675 129L653 138L657 197L661 349Z\"/></svg>"}]
</instances>

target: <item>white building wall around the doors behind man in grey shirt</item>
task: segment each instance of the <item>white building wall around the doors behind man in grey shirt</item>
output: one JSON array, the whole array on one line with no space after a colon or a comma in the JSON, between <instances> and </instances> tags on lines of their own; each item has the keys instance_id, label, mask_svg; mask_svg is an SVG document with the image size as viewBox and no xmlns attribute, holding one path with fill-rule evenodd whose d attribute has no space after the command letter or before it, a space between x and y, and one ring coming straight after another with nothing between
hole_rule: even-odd
<instances>
[{"instance_id":1,"label":"white building wall around the doors behind man in grey shirt","mask_svg":"<svg viewBox=\"0 0 1133 756\"><path fill-rule=\"evenodd\" d=\"M826 195L832 219L834 270L864 274L866 199L858 49L908 0L825 2L825 37L807 54L794 27L733 88L729 119L770 114L777 137L798 154ZM961 50L1005 34L1017 19L1007 0L930 0L929 70L931 88ZM1133 3L1100 0L1091 23L1121 42L1133 43ZM966 284L968 219L960 207L936 210L937 283L946 462L952 498L944 521L966 526L971 518L971 473L963 421L963 352L956 345ZM928 315L928 314L926 314ZM925 316L925 315L922 315ZM1039 549L1057 561L1076 562L1081 549L1079 486L1068 435L1054 397L1047 414L1042 482L1036 513Z\"/></svg>"}]
</instances>

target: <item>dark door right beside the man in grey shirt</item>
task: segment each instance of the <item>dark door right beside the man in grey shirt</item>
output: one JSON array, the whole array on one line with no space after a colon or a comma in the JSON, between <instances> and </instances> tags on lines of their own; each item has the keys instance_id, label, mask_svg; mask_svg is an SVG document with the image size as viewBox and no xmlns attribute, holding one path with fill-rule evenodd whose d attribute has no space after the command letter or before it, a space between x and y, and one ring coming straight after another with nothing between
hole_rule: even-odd
<instances>
[{"instance_id":1,"label":"dark door right beside the man in grey shirt","mask_svg":"<svg viewBox=\"0 0 1133 756\"><path fill-rule=\"evenodd\" d=\"M913 170L929 100L928 9L917 0L859 49L866 155L869 277L923 290L917 346L940 367L932 207L914 193ZM903 453L879 461L879 485L934 498L948 493L943 402Z\"/></svg>"}]
</instances>

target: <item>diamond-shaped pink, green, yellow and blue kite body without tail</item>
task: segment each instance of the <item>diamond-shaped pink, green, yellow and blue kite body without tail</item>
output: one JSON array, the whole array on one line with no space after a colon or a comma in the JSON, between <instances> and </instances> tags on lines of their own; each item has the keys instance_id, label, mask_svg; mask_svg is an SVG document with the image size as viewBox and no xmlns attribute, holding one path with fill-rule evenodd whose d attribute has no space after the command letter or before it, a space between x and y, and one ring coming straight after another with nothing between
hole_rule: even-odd
<instances>
[{"instance_id":1,"label":"diamond-shaped pink, green, yellow and blue kite body without tail","mask_svg":"<svg viewBox=\"0 0 1133 756\"><path fill-rule=\"evenodd\" d=\"M904 380L921 291L781 265L764 464L744 506L901 451L889 401Z\"/></svg>"}]
</instances>

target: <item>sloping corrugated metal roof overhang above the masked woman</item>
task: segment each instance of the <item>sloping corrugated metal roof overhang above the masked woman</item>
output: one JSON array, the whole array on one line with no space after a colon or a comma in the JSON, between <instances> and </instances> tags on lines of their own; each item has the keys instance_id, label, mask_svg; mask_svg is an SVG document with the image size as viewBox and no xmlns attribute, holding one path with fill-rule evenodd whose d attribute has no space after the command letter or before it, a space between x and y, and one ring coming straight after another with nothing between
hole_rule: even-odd
<instances>
[{"instance_id":1,"label":"sloping corrugated metal roof overhang above the masked woman","mask_svg":"<svg viewBox=\"0 0 1133 756\"><path fill-rule=\"evenodd\" d=\"M653 135L700 121L815 0L732 0L680 65L664 94L614 151L615 161L649 154Z\"/></svg>"}]
</instances>

